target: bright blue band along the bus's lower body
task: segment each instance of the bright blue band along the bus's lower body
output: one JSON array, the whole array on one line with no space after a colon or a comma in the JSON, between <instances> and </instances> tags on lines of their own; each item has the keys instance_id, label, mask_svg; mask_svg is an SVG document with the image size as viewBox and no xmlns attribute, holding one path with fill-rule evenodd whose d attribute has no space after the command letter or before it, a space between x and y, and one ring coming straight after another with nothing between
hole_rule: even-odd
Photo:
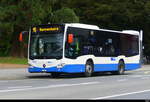
<instances>
[{"instance_id":1,"label":"bright blue band along the bus's lower body","mask_svg":"<svg viewBox=\"0 0 150 102\"><path fill-rule=\"evenodd\" d=\"M125 64L125 70L135 70L140 68L141 65L137 63L132 64ZM94 65L94 72L101 72L101 71L117 71L118 64L95 64ZM64 73L82 73L85 71L84 64L72 64L72 65L65 65L63 68L28 68L29 72L64 72Z\"/></svg>"}]
</instances>

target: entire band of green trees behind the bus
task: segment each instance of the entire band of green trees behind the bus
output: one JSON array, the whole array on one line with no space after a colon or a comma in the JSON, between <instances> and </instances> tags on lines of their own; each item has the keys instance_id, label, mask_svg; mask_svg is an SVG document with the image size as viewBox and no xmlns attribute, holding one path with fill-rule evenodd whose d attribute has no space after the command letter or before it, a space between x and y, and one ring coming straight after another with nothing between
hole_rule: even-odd
<instances>
[{"instance_id":1,"label":"entire band of green trees behind the bus","mask_svg":"<svg viewBox=\"0 0 150 102\"><path fill-rule=\"evenodd\" d=\"M0 55L20 56L18 34L32 25L48 22L80 22L113 30L142 29L144 53L150 56L149 0L0 0Z\"/></svg>"}]
</instances>

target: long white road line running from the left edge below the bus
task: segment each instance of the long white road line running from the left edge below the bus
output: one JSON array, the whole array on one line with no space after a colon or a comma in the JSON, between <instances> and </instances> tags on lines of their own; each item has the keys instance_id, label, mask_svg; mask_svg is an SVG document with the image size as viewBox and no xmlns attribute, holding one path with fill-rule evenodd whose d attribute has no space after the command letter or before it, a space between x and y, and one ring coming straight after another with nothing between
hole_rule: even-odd
<instances>
[{"instance_id":1,"label":"long white road line running from the left edge below the bus","mask_svg":"<svg viewBox=\"0 0 150 102\"><path fill-rule=\"evenodd\" d=\"M58 87L67 87L67 86L78 86L78 85L91 85L91 84L98 84L98 83L100 83L100 82L87 82L87 83L78 83L78 84L60 84L60 85L49 85L49 86L42 86L42 87L33 87L33 86L27 86L26 87L26 86L24 86L24 88L16 87L16 89L0 90L0 93L13 92L13 91L27 91L27 90L36 90L36 89L46 89L46 88L58 88Z\"/></svg>"}]
</instances>

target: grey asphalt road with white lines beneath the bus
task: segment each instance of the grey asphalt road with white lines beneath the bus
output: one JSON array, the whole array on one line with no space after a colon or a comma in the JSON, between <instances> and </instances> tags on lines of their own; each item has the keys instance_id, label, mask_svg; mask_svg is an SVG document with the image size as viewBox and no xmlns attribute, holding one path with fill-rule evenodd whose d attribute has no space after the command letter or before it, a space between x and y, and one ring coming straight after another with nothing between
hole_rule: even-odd
<instances>
[{"instance_id":1,"label":"grey asphalt road with white lines beneath the bus","mask_svg":"<svg viewBox=\"0 0 150 102\"><path fill-rule=\"evenodd\" d=\"M0 99L150 100L150 65L125 75L93 77L28 73L27 68L0 69Z\"/></svg>"}]
</instances>

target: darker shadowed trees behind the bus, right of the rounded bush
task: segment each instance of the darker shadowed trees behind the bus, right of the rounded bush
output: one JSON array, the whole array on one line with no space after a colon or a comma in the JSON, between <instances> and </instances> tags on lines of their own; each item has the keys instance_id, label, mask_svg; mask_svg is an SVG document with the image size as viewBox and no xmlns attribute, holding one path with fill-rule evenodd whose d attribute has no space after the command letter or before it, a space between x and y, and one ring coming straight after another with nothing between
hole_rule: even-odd
<instances>
[{"instance_id":1,"label":"darker shadowed trees behind the bus, right of the rounded bush","mask_svg":"<svg viewBox=\"0 0 150 102\"><path fill-rule=\"evenodd\" d=\"M150 56L150 1L148 0L67 0L81 23L113 30L143 30L144 54Z\"/></svg>"}]
</instances>

